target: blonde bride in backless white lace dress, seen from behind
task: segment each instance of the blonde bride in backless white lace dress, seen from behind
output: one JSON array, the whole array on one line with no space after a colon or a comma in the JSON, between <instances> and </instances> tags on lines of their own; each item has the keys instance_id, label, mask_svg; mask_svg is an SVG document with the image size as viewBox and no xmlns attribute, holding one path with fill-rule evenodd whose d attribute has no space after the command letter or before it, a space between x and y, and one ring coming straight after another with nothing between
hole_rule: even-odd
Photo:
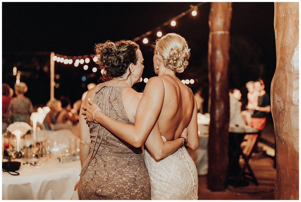
<instances>
[{"instance_id":1,"label":"blonde bride in backless white lace dress, seen from behind","mask_svg":"<svg viewBox=\"0 0 301 202\"><path fill-rule=\"evenodd\" d=\"M82 114L87 121L100 123L135 147L145 142L148 149L157 144L148 141L154 126L158 125L164 141L176 140L187 127L187 142L184 144L192 150L197 149L197 104L191 90L175 75L184 71L189 57L190 49L182 36L169 33L157 39L153 60L158 76L149 79L145 86L134 125L105 116L92 101L83 107L85 111ZM197 169L185 147L161 160L155 160L147 149L145 151L144 161L151 179L151 199L197 200Z\"/></svg>"}]
</instances>

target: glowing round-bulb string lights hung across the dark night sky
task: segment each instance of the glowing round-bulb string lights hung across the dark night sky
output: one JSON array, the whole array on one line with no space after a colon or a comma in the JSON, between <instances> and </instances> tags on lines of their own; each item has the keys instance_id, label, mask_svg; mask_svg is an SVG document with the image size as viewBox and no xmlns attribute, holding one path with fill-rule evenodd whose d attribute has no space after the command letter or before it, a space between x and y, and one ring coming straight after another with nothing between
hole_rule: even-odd
<instances>
[{"instance_id":1,"label":"glowing round-bulb string lights hung across the dark night sky","mask_svg":"<svg viewBox=\"0 0 301 202\"><path fill-rule=\"evenodd\" d=\"M167 26L167 25L171 25L171 26L176 26L176 20L180 19L181 17L187 15L188 13L191 13L192 16L196 16L197 15L197 9L203 5L206 2L200 2L197 5L190 5L190 8L185 11L182 12L181 14L173 17L172 19L166 21L165 23L161 24L160 26L157 26L156 28L154 28L153 30L150 30L136 38L133 39L133 41L139 41L142 39L142 42L144 44L147 44L149 42L149 40L147 39L147 36L151 35L152 33L157 34L157 37L161 37L162 36L162 29L163 27ZM73 64L74 67L78 67L79 64L84 64L83 69L84 70L88 70L88 64L90 63L91 60L93 60L93 62L95 63L98 58L97 57L93 57L92 54L90 55L81 55L81 56L66 56L66 55L60 55L60 54L55 54L54 57L52 58L54 61L58 62L58 63L63 63L63 64ZM97 67L93 67L92 68L92 72L97 72L98 68ZM101 70L101 74L103 74L103 70ZM16 74L16 70L14 70L14 74ZM144 79L140 79L140 82L147 82L148 78L144 78ZM182 80L181 82L184 84L194 84L194 82L197 82L197 79L186 79L186 80Z\"/></svg>"}]
</instances>

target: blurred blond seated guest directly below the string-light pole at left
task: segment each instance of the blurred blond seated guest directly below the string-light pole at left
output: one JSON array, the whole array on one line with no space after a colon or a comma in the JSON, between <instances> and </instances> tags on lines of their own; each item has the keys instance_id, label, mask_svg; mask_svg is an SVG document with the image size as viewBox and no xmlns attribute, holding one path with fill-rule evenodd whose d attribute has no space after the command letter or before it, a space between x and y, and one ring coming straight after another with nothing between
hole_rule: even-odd
<instances>
[{"instance_id":1,"label":"blurred blond seated guest directly below the string-light pole at left","mask_svg":"<svg viewBox=\"0 0 301 202\"><path fill-rule=\"evenodd\" d=\"M57 122L57 115L61 111L61 102L57 99L49 100L46 104L47 107L50 108L50 111L45 117L44 125L46 130L51 130L53 128L53 124Z\"/></svg>"}]
</instances>

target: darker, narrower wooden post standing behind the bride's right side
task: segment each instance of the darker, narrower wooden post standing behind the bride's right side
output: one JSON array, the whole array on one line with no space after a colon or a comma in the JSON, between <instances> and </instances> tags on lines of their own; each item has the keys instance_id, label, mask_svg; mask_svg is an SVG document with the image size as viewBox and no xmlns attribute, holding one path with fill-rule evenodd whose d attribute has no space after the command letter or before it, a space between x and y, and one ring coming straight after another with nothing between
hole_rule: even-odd
<instances>
[{"instance_id":1,"label":"darker, narrower wooden post standing behind the bride's right side","mask_svg":"<svg viewBox=\"0 0 301 202\"><path fill-rule=\"evenodd\" d=\"M231 2L212 2L209 14L209 168L207 187L211 191L227 188L229 128L229 48Z\"/></svg>"}]
</instances>

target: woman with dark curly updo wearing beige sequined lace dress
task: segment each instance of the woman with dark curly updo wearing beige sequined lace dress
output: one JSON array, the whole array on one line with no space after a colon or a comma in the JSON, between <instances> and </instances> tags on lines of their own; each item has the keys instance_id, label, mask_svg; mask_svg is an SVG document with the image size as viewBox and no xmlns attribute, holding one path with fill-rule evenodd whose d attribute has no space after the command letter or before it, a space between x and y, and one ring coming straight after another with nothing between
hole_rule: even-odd
<instances>
[{"instance_id":1,"label":"woman with dark curly updo wearing beige sequined lace dress","mask_svg":"<svg viewBox=\"0 0 301 202\"><path fill-rule=\"evenodd\" d=\"M113 120L133 125L142 96L132 89L132 85L140 81L144 68L139 46L128 40L106 42L96 44L95 52L96 63L104 70L102 79L105 82L88 91L82 106L87 105L89 99L93 100L98 110ZM82 107L80 112L83 112ZM79 126L82 163L79 199L151 199L142 144L129 144L96 121L87 125L84 116L79 117ZM149 139L155 143L149 151L158 159L183 145L183 138L163 142L158 125Z\"/></svg>"}]
</instances>

